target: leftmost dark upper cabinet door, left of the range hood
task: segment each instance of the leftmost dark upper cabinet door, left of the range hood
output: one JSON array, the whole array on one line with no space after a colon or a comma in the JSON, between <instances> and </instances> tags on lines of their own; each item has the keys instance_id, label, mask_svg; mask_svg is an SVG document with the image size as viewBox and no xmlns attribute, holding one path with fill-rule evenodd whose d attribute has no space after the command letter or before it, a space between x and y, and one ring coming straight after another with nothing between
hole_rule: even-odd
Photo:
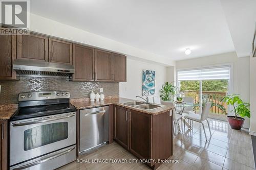
<instances>
[{"instance_id":1,"label":"leftmost dark upper cabinet door, left of the range hood","mask_svg":"<svg viewBox=\"0 0 256 170\"><path fill-rule=\"evenodd\" d=\"M5 28L1 28L5 29ZM16 71L13 68L13 61L16 59L16 36L0 35L0 79L16 79Z\"/></svg>"}]
</instances>

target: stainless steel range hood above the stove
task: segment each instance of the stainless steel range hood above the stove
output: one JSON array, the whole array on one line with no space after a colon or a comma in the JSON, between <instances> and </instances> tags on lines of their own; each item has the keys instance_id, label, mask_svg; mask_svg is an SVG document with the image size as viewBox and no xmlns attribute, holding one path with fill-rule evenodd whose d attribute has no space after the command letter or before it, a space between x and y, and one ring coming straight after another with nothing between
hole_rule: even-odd
<instances>
[{"instance_id":1,"label":"stainless steel range hood above the stove","mask_svg":"<svg viewBox=\"0 0 256 170\"><path fill-rule=\"evenodd\" d=\"M37 60L16 59L13 69L18 75L70 77L75 72L73 65Z\"/></svg>"}]
</instances>

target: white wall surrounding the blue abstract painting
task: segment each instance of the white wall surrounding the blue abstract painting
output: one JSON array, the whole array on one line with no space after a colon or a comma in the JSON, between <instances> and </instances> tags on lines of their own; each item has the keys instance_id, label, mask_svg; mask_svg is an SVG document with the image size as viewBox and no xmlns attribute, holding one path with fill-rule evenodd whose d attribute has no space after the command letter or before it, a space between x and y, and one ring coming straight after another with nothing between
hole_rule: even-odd
<instances>
[{"instance_id":1,"label":"white wall surrounding the blue abstract painting","mask_svg":"<svg viewBox=\"0 0 256 170\"><path fill-rule=\"evenodd\" d=\"M119 83L119 95L121 98L136 99L136 95L142 96L143 69L156 71L156 93L154 96L160 96L159 90L166 82L166 67L150 62L138 61L127 56L127 82Z\"/></svg>"}]
</instances>

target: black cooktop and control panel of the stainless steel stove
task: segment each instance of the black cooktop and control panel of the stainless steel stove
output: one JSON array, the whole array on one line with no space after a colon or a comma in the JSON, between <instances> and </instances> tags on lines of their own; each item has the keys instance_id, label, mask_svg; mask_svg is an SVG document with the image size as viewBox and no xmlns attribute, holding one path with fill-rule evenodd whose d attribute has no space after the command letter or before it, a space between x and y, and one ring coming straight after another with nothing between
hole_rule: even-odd
<instances>
[{"instance_id":1,"label":"black cooktop and control panel of the stainless steel stove","mask_svg":"<svg viewBox=\"0 0 256 170\"><path fill-rule=\"evenodd\" d=\"M76 111L65 91L38 91L19 94L19 108L10 120L20 120Z\"/></svg>"}]
</instances>

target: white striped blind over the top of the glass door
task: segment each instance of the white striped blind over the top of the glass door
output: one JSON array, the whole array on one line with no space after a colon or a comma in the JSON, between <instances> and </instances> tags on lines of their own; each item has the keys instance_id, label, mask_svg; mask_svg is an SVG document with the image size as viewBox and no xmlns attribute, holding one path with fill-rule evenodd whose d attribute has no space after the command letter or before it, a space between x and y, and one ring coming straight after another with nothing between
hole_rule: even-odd
<instances>
[{"instance_id":1,"label":"white striped blind over the top of the glass door","mask_svg":"<svg viewBox=\"0 0 256 170\"><path fill-rule=\"evenodd\" d=\"M229 80L230 66L178 71L178 81L184 80Z\"/></svg>"}]
</instances>

